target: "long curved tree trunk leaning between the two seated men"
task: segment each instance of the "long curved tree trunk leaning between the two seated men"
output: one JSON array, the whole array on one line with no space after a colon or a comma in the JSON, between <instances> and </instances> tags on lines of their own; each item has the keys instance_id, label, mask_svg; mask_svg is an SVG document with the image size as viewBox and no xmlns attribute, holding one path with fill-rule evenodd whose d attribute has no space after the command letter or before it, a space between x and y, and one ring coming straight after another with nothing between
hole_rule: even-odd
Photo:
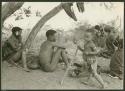
<instances>
[{"instance_id":1,"label":"long curved tree trunk leaning between the two seated men","mask_svg":"<svg viewBox=\"0 0 125 91\"><path fill-rule=\"evenodd\" d=\"M30 32L25 45L23 47L23 49L28 49L30 48L35 36L37 35L37 33L40 31L41 27L52 17L54 17L57 13L59 13L62 10L62 4L58 5L57 7L55 7L54 9L52 9L50 12L48 12L45 16L43 16L39 22L33 27L32 31Z\"/></svg>"}]
</instances>

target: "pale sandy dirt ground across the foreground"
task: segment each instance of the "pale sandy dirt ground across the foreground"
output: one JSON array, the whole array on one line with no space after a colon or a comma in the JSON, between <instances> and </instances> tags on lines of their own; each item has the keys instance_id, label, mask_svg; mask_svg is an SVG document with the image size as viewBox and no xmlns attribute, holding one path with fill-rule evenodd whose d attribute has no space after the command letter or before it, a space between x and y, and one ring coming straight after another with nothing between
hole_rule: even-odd
<instances>
[{"instance_id":1,"label":"pale sandy dirt ground across the foreground","mask_svg":"<svg viewBox=\"0 0 125 91\"><path fill-rule=\"evenodd\" d=\"M100 65L106 60L100 60ZM105 62L105 64L108 64ZM103 67L107 68L105 65ZM60 66L55 72L47 73L42 70L32 70L25 72L17 67L9 67L8 63L2 63L2 89L100 89L95 79L90 80L90 85L84 85L80 80L84 78L66 77L63 85L60 81L65 70ZM123 89L123 80L111 78L105 73L101 73L102 78L108 84L106 89Z\"/></svg>"}]
</instances>

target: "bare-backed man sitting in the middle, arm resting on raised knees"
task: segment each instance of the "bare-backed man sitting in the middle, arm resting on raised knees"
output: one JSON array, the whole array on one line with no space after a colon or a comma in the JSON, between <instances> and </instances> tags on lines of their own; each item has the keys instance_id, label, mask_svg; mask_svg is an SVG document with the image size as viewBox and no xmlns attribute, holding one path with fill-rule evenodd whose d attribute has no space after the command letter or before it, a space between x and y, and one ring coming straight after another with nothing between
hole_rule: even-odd
<instances>
[{"instance_id":1,"label":"bare-backed man sitting in the middle, arm resting on raised knees","mask_svg":"<svg viewBox=\"0 0 125 91\"><path fill-rule=\"evenodd\" d=\"M56 31L48 30L46 32L47 40L42 43L40 48L40 67L46 72L53 72L57 68L57 64L62 58L66 66L68 66L68 57L66 55L65 46L56 43Z\"/></svg>"}]
</instances>

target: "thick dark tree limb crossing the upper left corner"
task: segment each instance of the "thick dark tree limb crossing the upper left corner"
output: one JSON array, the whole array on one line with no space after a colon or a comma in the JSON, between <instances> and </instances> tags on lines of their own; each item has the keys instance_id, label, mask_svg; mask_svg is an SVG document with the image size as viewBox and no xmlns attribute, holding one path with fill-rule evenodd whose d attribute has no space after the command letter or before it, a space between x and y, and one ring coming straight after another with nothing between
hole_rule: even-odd
<instances>
[{"instance_id":1,"label":"thick dark tree limb crossing the upper left corner","mask_svg":"<svg viewBox=\"0 0 125 91\"><path fill-rule=\"evenodd\" d=\"M3 26L3 22L6 18L12 15L16 10L18 10L24 2L7 2L2 6L2 18L1 25Z\"/></svg>"}]
</instances>

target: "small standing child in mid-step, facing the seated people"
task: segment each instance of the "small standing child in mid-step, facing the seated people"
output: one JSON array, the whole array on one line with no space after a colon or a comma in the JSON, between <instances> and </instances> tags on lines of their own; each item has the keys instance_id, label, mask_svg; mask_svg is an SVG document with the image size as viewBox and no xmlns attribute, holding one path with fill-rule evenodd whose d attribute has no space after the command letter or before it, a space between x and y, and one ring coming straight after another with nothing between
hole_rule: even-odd
<instances>
[{"instance_id":1,"label":"small standing child in mid-step, facing the seated people","mask_svg":"<svg viewBox=\"0 0 125 91\"><path fill-rule=\"evenodd\" d=\"M83 59L85 60L88 70L90 72L90 75L88 76L88 80L91 76L94 76L95 79L101 84L102 88L105 88L105 84L103 82L103 79L101 76L97 73L97 49L95 44L92 41L93 37L89 30L85 32L84 40L84 49L78 46L78 49L83 52ZM88 82L88 81L87 81Z\"/></svg>"}]
</instances>

